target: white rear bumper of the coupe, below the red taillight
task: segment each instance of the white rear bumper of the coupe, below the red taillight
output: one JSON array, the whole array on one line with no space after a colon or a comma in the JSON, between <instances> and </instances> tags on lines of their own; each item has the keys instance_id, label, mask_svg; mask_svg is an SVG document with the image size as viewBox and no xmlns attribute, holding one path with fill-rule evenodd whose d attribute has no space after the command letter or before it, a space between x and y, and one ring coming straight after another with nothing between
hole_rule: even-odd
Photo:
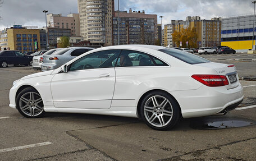
<instances>
[{"instance_id":1,"label":"white rear bumper of the coupe, below the red taillight","mask_svg":"<svg viewBox=\"0 0 256 161\"><path fill-rule=\"evenodd\" d=\"M171 92L170 92L171 93ZM202 117L230 111L243 101L243 87L233 89L202 85L197 90L171 93L180 104L182 117Z\"/></svg>"}]
</instances>

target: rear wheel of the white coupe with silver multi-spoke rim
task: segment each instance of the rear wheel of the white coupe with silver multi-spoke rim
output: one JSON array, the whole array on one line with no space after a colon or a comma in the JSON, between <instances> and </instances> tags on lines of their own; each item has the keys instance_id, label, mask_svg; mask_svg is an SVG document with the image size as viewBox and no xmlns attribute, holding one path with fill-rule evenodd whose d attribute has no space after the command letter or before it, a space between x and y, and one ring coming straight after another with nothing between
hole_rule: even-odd
<instances>
[{"instance_id":1,"label":"rear wheel of the white coupe with silver multi-spoke rim","mask_svg":"<svg viewBox=\"0 0 256 161\"><path fill-rule=\"evenodd\" d=\"M143 121L154 130L169 130L180 120L180 106L172 96L163 91L147 94L141 104Z\"/></svg>"}]
</instances>

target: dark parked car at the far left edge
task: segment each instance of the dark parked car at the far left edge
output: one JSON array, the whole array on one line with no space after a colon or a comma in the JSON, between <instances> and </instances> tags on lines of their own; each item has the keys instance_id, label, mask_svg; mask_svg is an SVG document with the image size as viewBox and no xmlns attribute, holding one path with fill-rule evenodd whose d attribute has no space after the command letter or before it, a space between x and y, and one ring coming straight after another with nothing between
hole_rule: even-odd
<instances>
[{"instance_id":1,"label":"dark parked car at the far left edge","mask_svg":"<svg viewBox=\"0 0 256 161\"><path fill-rule=\"evenodd\" d=\"M7 67L8 65L31 66L32 63L33 56L27 56L17 50L4 50L0 52L0 67Z\"/></svg>"}]
</instances>

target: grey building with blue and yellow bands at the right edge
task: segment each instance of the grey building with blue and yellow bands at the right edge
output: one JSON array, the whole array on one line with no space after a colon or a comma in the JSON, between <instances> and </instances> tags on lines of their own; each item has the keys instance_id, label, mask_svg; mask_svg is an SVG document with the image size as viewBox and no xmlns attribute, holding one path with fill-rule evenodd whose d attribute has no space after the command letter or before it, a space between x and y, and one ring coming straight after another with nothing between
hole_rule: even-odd
<instances>
[{"instance_id":1,"label":"grey building with blue and yellow bands at the right edge","mask_svg":"<svg viewBox=\"0 0 256 161\"><path fill-rule=\"evenodd\" d=\"M256 26L254 27L255 35ZM255 50L255 36L253 40L253 15L222 19L221 30L221 45L226 45L240 52L246 52L248 49L252 49L252 45L254 44L253 49Z\"/></svg>"}]
</instances>

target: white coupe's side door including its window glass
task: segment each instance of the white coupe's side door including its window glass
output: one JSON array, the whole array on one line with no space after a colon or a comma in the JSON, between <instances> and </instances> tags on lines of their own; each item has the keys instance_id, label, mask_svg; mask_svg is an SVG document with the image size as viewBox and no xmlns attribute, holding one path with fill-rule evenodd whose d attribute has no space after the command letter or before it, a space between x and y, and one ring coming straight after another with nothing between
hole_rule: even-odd
<instances>
[{"instance_id":1,"label":"white coupe's side door including its window glass","mask_svg":"<svg viewBox=\"0 0 256 161\"><path fill-rule=\"evenodd\" d=\"M108 109L115 88L115 64L120 50L88 54L57 73L51 82L57 108Z\"/></svg>"}]
</instances>

